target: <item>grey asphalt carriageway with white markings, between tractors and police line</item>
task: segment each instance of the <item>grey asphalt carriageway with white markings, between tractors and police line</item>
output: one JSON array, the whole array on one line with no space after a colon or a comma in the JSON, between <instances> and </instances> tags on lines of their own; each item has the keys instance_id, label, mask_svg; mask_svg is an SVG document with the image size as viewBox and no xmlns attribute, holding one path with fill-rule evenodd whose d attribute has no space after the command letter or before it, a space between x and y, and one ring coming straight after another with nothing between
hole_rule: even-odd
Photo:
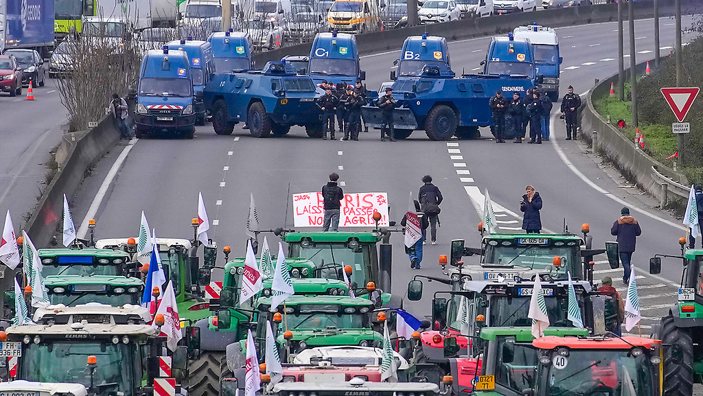
<instances>
[{"instance_id":1,"label":"grey asphalt carriageway with white markings, between tractors and police line","mask_svg":"<svg viewBox=\"0 0 703 396\"><path fill-rule=\"evenodd\" d=\"M689 25L689 21L687 18L683 25ZM660 51L666 54L673 46L673 19L662 18L660 23ZM562 94L569 84L578 93L586 92L594 79L617 72L616 23L567 27L557 32L564 57ZM654 58L653 40L653 21L637 21L638 62ZM489 41L490 38L482 38L451 43L453 69L476 72ZM399 51L392 51L362 58L370 89L387 79L398 56ZM546 229L562 231L566 219L569 231L577 232L582 223L588 223L595 246L614 239L610 226L619 217L621 207L631 207L643 228L633 263L643 306L641 331L648 333L651 324L676 300L681 264L665 261L662 276L654 277L645 274L647 259L654 253L676 253L677 240L685 234L683 226L668 213L654 208L654 200L628 186L610 167L602 165L600 158L584 153L583 143L565 141L557 109L555 103L552 139L541 146L496 145L489 139L487 129L482 130L482 139L449 142L429 141L424 132L415 132L406 141L380 142L379 133L373 130L362 133L358 142L321 141L308 139L301 128L292 129L283 138L253 139L241 129L241 124L232 136L217 136L207 124L198 127L192 141L135 140L112 151L98 164L72 199L74 219L81 222L92 206L98 237L136 236L144 210L158 236L189 238L193 235L190 224L197 215L201 191L213 222L209 236L220 247L231 245L235 255L244 255L250 193L257 202L262 229L290 227L290 207L288 219L285 217L287 191L317 191L330 172L337 172L344 191L387 191L391 217L400 220L408 193L417 193L422 184L420 178L431 174L445 200L441 205L438 245L425 246L422 269L409 269L401 236L392 237L392 291L404 294L413 274L439 273L437 257L449 254L451 239L465 238L467 245L478 245L476 226L485 189L490 191L494 205L504 208L496 210L501 229L512 231L520 227L518 201L524 187L531 184L543 197ZM120 155L123 150L127 151L126 156ZM115 166L121 158L125 158L124 162ZM105 184L112 167L117 174L110 184ZM277 241L276 236L269 235L272 250ZM598 260L596 277L612 276L615 286L624 290L619 280L622 270L611 270L605 257ZM406 304L418 317L430 312L433 285L426 286L423 301Z\"/></svg>"}]
</instances>

